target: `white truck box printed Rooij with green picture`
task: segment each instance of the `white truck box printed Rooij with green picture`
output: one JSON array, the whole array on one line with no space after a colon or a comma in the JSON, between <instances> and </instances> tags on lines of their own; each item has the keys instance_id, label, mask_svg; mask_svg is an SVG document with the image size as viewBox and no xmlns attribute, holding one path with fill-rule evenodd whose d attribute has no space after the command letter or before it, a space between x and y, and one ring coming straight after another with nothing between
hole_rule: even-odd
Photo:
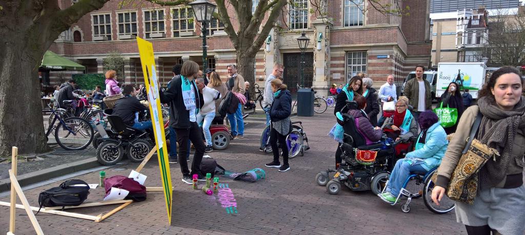
<instances>
[{"instance_id":1,"label":"white truck box printed Rooij with green picture","mask_svg":"<svg viewBox=\"0 0 525 235\"><path fill-rule=\"evenodd\" d=\"M448 84L455 81L460 91L468 89L472 98L478 98L478 90L485 84L487 67L482 62L439 63L437 65L436 97L441 97Z\"/></svg>"}]
</instances>

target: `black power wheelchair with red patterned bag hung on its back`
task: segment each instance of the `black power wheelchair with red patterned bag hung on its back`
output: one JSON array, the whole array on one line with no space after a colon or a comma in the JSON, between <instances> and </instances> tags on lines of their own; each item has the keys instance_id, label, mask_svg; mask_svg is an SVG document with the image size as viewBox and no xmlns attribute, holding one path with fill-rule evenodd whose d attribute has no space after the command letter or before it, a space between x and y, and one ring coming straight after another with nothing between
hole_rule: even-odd
<instances>
[{"instance_id":1,"label":"black power wheelchair with red patterned bag hung on its back","mask_svg":"<svg viewBox=\"0 0 525 235\"><path fill-rule=\"evenodd\" d=\"M343 110L357 109L355 101L346 100ZM395 146L399 142L383 135L381 142L373 145L365 145L364 137L357 131L354 117L343 114L340 125L344 129L343 143L339 146L342 151L343 162L337 169L321 171L316 176L319 186L326 186L327 191L338 194L341 184L353 191L372 190L374 195L381 192L386 185L390 171L397 160ZM338 120L339 121L339 120ZM330 172L335 172L329 177Z\"/></svg>"}]
</instances>

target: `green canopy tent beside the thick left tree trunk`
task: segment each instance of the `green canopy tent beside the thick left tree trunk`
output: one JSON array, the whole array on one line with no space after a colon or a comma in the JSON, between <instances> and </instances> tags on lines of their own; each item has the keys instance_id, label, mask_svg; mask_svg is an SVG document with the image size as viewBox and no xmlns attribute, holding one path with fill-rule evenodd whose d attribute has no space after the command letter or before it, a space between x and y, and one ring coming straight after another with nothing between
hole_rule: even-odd
<instances>
[{"instance_id":1,"label":"green canopy tent beside the thick left tree trunk","mask_svg":"<svg viewBox=\"0 0 525 235\"><path fill-rule=\"evenodd\" d=\"M72 62L71 60L64 58L48 50L42 58L42 64L38 69L42 74L41 83L49 85L49 71L63 71L63 70L86 70L85 66L78 63Z\"/></svg>"}]
</instances>

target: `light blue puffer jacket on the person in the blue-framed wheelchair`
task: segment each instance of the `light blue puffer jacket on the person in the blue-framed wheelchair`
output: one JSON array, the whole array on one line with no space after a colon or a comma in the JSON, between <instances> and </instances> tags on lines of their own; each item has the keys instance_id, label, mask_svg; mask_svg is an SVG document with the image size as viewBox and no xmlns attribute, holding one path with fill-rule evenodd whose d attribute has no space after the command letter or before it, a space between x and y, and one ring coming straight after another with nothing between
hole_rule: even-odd
<instances>
[{"instance_id":1,"label":"light blue puffer jacket on the person in the blue-framed wheelchair","mask_svg":"<svg viewBox=\"0 0 525 235\"><path fill-rule=\"evenodd\" d=\"M423 168L425 168L425 170L428 171L441 164L441 159L443 158L443 156L445 156L445 151L447 150L447 147L447 134L445 133L445 129L443 129L443 127L441 126L441 123L438 121L436 124L428 128L425 139L425 145L423 145L423 147L419 149L416 149L406 154L405 159L423 159L425 163L422 164L422 166Z\"/></svg>"}]
</instances>

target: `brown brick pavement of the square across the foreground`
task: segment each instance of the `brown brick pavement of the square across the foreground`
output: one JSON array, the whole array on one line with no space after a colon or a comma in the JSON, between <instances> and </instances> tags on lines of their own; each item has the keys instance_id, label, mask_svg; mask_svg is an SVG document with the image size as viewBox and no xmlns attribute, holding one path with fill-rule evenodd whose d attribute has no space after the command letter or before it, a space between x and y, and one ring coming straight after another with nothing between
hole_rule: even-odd
<instances>
[{"instance_id":1,"label":"brown brick pavement of the square across the foreground","mask_svg":"<svg viewBox=\"0 0 525 235\"><path fill-rule=\"evenodd\" d=\"M232 190L237 214L228 214L220 206L217 195L207 196L201 190L181 182L177 165L171 166L173 179L173 218L167 224L162 192L148 193L144 202L134 202L113 216L95 223L88 220L40 213L37 219L46 234L465 234L456 223L454 212L434 214L421 199L411 203L411 212L403 213L400 206L390 206L371 192L352 192L346 188L339 195L329 195L314 182L315 175L334 162L336 143L327 138L333 125L332 109L314 117L294 117L302 120L311 149L303 157L290 160L291 170L278 172L264 164L270 154L258 151L259 134L263 124L249 121L245 139L234 140L225 151L209 155L229 170L245 171L265 168L266 179L255 183L224 180ZM124 171L107 171L107 177L128 175L138 164L126 164ZM145 185L158 187L158 162L152 159L142 171L149 178ZM89 183L98 182L97 173L78 177ZM37 206L38 193L55 187L49 185L25 192L32 206ZM103 190L91 190L87 202L100 201ZM2 198L9 201L9 198ZM97 215L117 206L80 208L71 212ZM7 232L8 207L0 207L0 233ZM17 214L24 214L17 209ZM27 217L17 216L16 234L34 234Z\"/></svg>"}]
</instances>

